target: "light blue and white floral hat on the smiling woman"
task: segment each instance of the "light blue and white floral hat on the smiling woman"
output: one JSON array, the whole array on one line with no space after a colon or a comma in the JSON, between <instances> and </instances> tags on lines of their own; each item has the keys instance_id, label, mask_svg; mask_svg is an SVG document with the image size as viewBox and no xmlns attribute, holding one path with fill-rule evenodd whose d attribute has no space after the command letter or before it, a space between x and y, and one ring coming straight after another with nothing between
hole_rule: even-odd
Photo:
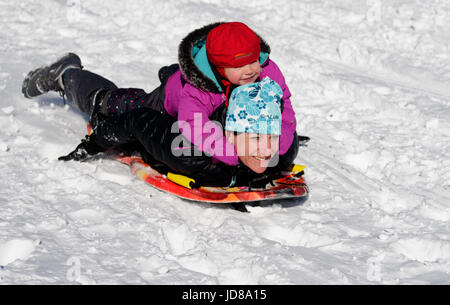
<instances>
[{"instance_id":1,"label":"light blue and white floral hat on the smiling woman","mask_svg":"<svg viewBox=\"0 0 450 305\"><path fill-rule=\"evenodd\" d=\"M269 77L239 86L230 96L225 130L258 134L281 134L283 90Z\"/></svg>"}]
</instances>

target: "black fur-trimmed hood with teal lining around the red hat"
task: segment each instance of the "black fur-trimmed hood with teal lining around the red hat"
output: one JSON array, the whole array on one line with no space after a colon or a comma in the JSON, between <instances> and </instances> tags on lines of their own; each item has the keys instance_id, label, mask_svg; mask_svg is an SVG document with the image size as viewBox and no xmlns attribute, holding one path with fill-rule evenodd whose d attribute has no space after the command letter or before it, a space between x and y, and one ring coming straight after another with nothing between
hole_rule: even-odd
<instances>
[{"instance_id":1,"label":"black fur-trimmed hood with teal lining around the red hat","mask_svg":"<svg viewBox=\"0 0 450 305\"><path fill-rule=\"evenodd\" d=\"M206 36L208 36L208 33L222 23L224 22L212 23L192 31L181 41L178 48L178 61L181 72L191 85L206 92L220 93L221 90L207 60L204 45L206 44ZM261 36L256 35L261 40L262 56L260 58L266 61L270 54L270 47ZM202 51L203 53L201 53ZM206 58L200 58L200 61L203 61L200 64L197 57Z\"/></svg>"}]
</instances>

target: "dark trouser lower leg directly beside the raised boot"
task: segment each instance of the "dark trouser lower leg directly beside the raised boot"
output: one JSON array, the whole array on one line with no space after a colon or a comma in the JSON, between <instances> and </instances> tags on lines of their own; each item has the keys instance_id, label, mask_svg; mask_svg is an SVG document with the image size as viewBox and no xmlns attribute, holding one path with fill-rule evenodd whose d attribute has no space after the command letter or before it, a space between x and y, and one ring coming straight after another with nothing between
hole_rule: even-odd
<instances>
[{"instance_id":1,"label":"dark trouser lower leg directly beside the raised boot","mask_svg":"<svg viewBox=\"0 0 450 305\"><path fill-rule=\"evenodd\" d=\"M90 116L96 101L99 102L108 91L117 89L110 80L87 70L69 69L62 76L62 82L70 103Z\"/></svg>"}]
</instances>

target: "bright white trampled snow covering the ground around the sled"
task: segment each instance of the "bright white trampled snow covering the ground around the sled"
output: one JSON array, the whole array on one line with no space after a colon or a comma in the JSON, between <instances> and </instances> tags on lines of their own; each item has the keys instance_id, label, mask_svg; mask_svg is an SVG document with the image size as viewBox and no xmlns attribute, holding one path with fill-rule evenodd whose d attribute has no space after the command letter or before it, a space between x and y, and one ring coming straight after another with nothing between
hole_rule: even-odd
<instances>
[{"instance_id":1,"label":"bright white trampled snow covering the ground around the sled","mask_svg":"<svg viewBox=\"0 0 450 305\"><path fill-rule=\"evenodd\" d=\"M312 141L309 200L250 214L63 163L86 118L22 97L61 54L150 91L189 31L249 24ZM446 0L0 1L0 284L450 284Z\"/></svg>"}]
</instances>

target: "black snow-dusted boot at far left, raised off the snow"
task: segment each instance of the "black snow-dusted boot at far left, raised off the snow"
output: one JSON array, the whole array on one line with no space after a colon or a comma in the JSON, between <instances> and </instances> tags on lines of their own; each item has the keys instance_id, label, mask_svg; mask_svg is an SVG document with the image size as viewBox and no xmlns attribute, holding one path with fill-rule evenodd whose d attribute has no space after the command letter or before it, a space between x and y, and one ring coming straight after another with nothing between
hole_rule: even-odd
<instances>
[{"instance_id":1,"label":"black snow-dusted boot at far left, raised off the snow","mask_svg":"<svg viewBox=\"0 0 450 305\"><path fill-rule=\"evenodd\" d=\"M78 55L68 53L50 66L30 71L22 83L23 95L33 98L49 91L64 92L61 77L67 69L83 69Z\"/></svg>"}]
</instances>

